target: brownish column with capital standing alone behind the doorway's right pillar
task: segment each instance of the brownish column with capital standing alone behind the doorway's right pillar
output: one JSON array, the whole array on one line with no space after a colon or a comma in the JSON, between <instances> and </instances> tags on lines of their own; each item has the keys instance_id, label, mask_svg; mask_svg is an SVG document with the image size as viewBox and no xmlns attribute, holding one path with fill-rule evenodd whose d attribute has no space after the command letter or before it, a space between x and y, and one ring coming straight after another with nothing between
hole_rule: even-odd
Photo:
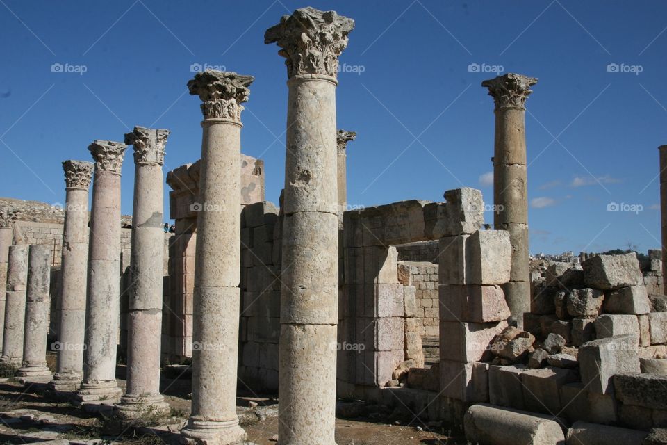
<instances>
[{"instance_id":1,"label":"brownish column with capital standing alone behind the doorway's right pillar","mask_svg":"<svg viewBox=\"0 0 667 445\"><path fill-rule=\"evenodd\" d=\"M530 312L525 103L535 83L533 77L513 73L481 83L495 102L493 225L510 235L511 277L503 289L509 322L520 328L523 314Z\"/></svg>"}]
</instances>

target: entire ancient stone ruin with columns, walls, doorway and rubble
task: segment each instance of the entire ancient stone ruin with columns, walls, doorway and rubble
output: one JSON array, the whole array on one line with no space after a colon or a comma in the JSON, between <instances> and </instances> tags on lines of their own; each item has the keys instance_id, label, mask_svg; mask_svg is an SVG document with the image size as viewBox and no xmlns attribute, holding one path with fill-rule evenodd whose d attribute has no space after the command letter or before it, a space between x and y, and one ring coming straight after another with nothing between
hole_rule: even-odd
<instances>
[{"instance_id":1,"label":"entire ancient stone ruin with columns, walls, doorway and rubble","mask_svg":"<svg viewBox=\"0 0 667 445\"><path fill-rule=\"evenodd\" d=\"M254 77L215 70L187 82L201 159L165 174L170 131L137 126L94 140L93 162L63 162L62 209L0 201L12 384L192 445L252 443L255 415L277 416L281 445L335 444L337 417L463 428L472 444L667 443L667 250L532 264L525 106L537 79L522 74L481 85L495 104L493 229L467 187L346 209L356 133L336 127L336 76L353 29L302 8L265 33L288 79L279 203L265 201L263 161L241 153ZM662 184L667 146L660 163ZM272 396L240 407L242 394Z\"/></svg>"}]
</instances>

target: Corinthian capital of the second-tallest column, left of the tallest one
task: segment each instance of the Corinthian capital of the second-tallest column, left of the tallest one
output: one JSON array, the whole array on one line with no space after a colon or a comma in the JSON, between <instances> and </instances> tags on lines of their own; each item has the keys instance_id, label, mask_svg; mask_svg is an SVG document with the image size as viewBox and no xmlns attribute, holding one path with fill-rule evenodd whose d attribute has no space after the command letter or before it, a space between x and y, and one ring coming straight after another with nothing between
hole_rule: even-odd
<instances>
[{"instance_id":1,"label":"Corinthian capital of the second-tallest column, left of the tallest one","mask_svg":"<svg viewBox=\"0 0 667 445\"><path fill-rule=\"evenodd\" d=\"M253 76L242 76L235 72L207 70L195 75L188 82L188 90L199 96L204 119L222 118L241 122L243 102L247 102L254 81Z\"/></svg>"}]
</instances>

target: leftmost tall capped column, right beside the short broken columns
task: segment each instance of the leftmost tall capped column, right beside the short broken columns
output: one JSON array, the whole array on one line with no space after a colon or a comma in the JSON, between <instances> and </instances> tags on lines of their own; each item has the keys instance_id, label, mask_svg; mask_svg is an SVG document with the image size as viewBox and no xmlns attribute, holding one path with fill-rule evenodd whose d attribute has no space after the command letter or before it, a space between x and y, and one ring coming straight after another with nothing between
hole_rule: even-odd
<instances>
[{"instance_id":1,"label":"leftmost tall capped column, right beside the short broken columns","mask_svg":"<svg viewBox=\"0 0 667 445\"><path fill-rule=\"evenodd\" d=\"M61 292L58 304L60 332L53 350L58 352L51 389L72 392L83 379L85 288L88 280L88 188L94 164L63 162L65 170L65 227L61 261Z\"/></svg>"}]
</instances>

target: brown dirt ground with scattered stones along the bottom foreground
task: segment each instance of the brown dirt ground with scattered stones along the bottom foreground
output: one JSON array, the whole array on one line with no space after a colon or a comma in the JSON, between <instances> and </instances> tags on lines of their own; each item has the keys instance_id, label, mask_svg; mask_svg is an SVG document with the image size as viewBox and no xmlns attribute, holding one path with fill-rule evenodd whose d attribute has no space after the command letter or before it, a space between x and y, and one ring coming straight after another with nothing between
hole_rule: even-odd
<instances>
[{"instance_id":1,"label":"brown dirt ground with scattered stones along the bottom foreground","mask_svg":"<svg viewBox=\"0 0 667 445\"><path fill-rule=\"evenodd\" d=\"M125 381L120 377L119 385ZM38 387L23 387L13 379L0 382L0 444L25 444L65 439L74 445L100 442L119 444L178 444L178 431L190 414L191 381L187 376L165 377L160 387L172 407L170 416L151 419L154 426L120 425L107 413L91 414L69 402L49 401ZM278 401L265 394L240 394L237 412L248 441L273 445L278 433ZM254 406L257 404L257 406ZM400 421L368 418L336 419L338 445L465 445L460 434L421 421L406 426ZM63 445L66 442L62 442Z\"/></svg>"}]
</instances>

